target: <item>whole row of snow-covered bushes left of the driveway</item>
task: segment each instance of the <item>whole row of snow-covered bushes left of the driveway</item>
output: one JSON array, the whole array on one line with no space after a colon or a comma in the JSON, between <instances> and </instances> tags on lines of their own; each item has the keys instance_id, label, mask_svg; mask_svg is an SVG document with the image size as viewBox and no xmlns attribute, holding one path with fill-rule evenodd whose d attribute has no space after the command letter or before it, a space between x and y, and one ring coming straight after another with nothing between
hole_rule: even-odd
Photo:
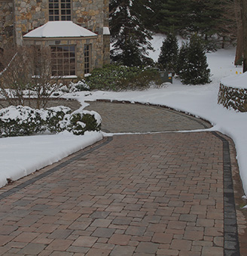
<instances>
[{"instance_id":1,"label":"whole row of snow-covered bushes left of the driveway","mask_svg":"<svg viewBox=\"0 0 247 256\"><path fill-rule=\"evenodd\" d=\"M32 109L29 106L8 106L0 110L1 137L25 136L44 131L70 131L83 135L85 131L100 131L101 117L82 108L72 112L69 107L55 106Z\"/></svg>"}]
</instances>

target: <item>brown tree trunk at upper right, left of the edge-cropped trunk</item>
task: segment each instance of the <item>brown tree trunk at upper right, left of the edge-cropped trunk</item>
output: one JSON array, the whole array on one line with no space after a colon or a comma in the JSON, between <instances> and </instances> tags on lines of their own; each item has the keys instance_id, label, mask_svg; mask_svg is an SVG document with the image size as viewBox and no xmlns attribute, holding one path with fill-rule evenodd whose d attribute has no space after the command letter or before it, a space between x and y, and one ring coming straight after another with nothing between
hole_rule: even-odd
<instances>
[{"instance_id":1,"label":"brown tree trunk at upper right, left of the edge-cropped trunk","mask_svg":"<svg viewBox=\"0 0 247 256\"><path fill-rule=\"evenodd\" d=\"M237 39L236 39L236 55L234 64L242 65L242 52L243 52L243 35L242 35L242 18L241 18L241 8L239 0L235 0L235 16L236 16L236 26L237 26Z\"/></svg>"}]
</instances>

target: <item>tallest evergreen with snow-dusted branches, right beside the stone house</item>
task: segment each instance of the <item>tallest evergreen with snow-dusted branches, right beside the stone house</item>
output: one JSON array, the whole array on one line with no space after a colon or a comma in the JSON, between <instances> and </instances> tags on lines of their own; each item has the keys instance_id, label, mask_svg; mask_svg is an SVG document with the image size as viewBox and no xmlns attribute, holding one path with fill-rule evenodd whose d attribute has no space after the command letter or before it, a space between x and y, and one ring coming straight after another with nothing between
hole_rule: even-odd
<instances>
[{"instance_id":1,"label":"tallest evergreen with snow-dusted branches, right beside the stone house","mask_svg":"<svg viewBox=\"0 0 247 256\"><path fill-rule=\"evenodd\" d=\"M114 50L111 58L126 66L140 66L151 50L151 32L145 29L141 14L143 2L148 0L111 0L110 2L110 29L111 42Z\"/></svg>"}]
</instances>

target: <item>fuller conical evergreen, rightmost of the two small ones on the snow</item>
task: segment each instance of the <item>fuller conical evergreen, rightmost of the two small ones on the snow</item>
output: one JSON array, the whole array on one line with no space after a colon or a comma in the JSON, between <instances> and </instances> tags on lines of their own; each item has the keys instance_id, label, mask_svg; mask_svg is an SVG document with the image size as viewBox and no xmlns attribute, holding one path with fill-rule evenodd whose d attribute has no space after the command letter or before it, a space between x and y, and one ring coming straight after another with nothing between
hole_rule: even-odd
<instances>
[{"instance_id":1,"label":"fuller conical evergreen, rightmost of the two small ones on the snow","mask_svg":"<svg viewBox=\"0 0 247 256\"><path fill-rule=\"evenodd\" d=\"M178 72L183 84L205 85L211 82L210 69L199 36L191 36L190 42L181 48L178 59L183 62Z\"/></svg>"}]
</instances>

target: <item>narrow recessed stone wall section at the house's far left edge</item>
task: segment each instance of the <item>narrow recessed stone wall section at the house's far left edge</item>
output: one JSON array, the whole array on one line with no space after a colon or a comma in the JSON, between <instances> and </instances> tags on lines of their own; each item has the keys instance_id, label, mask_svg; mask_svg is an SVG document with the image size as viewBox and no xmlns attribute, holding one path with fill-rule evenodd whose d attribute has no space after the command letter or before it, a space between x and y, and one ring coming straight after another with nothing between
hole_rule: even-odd
<instances>
[{"instance_id":1,"label":"narrow recessed stone wall section at the house's far left edge","mask_svg":"<svg viewBox=\"0 0 247 256\"><path fill-rule=\"evenodd\" d=\"M14 44L13 2L0 1L0 48Z\"/></svg>"}]
</instances>

